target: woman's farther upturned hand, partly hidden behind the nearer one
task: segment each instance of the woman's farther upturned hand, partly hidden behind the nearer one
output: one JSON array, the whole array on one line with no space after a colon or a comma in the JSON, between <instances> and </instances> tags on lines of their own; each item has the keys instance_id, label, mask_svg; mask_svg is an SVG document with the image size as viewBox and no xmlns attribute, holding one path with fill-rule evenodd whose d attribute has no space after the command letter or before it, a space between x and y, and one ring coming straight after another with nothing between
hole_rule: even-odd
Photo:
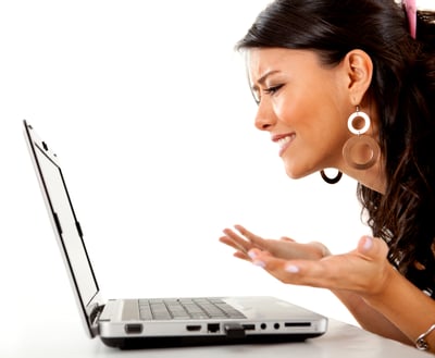
<instances>
[{"instance_id":1,"label":"woman's farther upturned hand, partly hidden behind the nearer one","mask_svg":"<svg viewBox=\"0 0 435 358\"><path fill-rule=\"evenodd\" d=\"M326 246L321 243L299 244L289 237L282 237L281 239L262 238L241 225L234 227L235 230L225 229L223 231L225 235L220 237L220 242L236 249L234 256L239 259L251 261L248 251L252 248L270 252L284 260L320 260L331 255Z\"/></svg>"}]
</instances>

